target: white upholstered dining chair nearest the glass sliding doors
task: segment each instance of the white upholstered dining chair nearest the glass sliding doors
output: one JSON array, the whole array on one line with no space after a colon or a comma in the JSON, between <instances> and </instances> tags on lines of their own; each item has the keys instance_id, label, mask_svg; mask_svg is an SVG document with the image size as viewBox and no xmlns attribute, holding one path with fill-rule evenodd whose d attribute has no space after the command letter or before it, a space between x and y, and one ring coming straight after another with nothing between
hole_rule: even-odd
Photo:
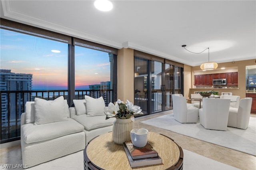
<instances>
[{"instance_id":1,"label":"white upholstered dining chair nearest the glass sliding doors","mask_svg":"<svg viewBox=\"0 0 256 170\"><path fill-rule=\"evenodd\" d=\"M174 119L180 123L197 123L198 108L186 105L186 97L172 95Z\"/></svg>"}]
</instances>

